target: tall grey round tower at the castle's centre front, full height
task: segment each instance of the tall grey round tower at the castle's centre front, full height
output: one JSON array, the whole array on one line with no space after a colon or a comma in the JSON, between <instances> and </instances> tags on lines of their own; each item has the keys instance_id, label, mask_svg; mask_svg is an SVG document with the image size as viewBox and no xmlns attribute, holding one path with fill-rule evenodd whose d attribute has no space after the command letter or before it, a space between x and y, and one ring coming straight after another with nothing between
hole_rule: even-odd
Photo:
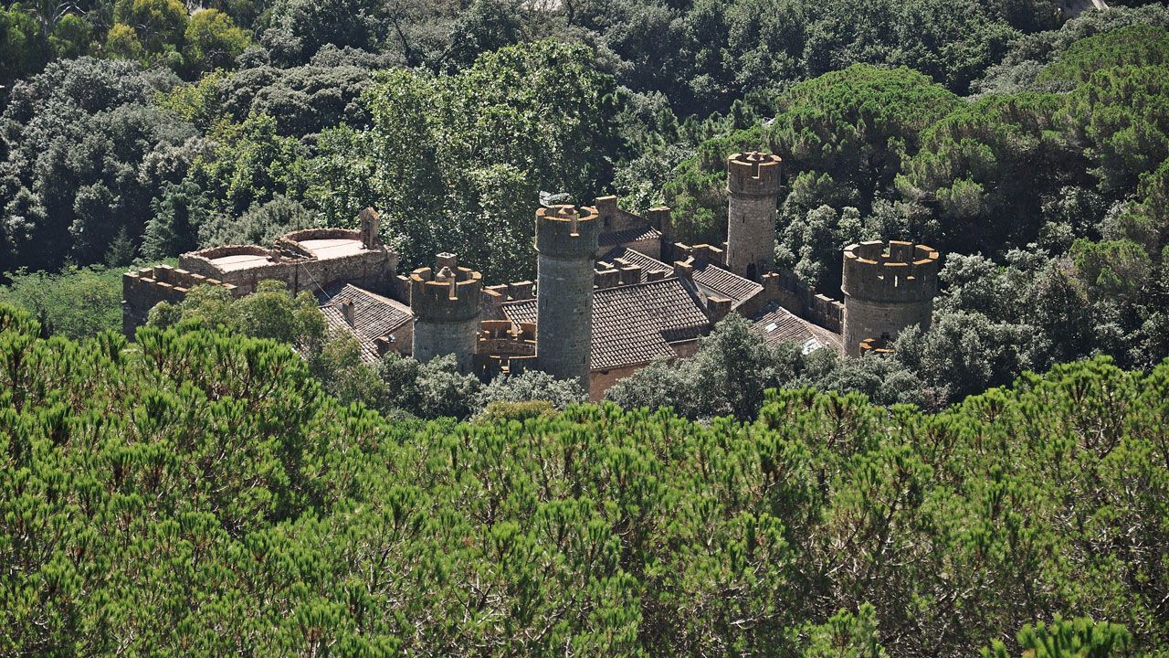
<instances>
[{"instance_id":1,"label":"tall grey round tower at the castle's centre front, full height","mask_svg":"<svg viewBox=\"0 0 1169 658\"><path fill-rule=\"evenodd\" d=\"M593 338L593 259L601 222L596 208L535 211L537 324L540 370L589 388Z\"/></svg>"}]
</instances>

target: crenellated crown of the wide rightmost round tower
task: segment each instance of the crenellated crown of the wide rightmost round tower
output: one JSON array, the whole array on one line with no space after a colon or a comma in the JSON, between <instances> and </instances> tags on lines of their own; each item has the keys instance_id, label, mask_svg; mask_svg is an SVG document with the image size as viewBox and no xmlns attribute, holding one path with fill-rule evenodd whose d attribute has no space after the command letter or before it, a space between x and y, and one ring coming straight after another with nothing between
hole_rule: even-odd
<instances>
[{"instance_id":1,"label":"crenellated crown of the wide rightmost round tower","mask_svg":"<svg viewBox=\"0 0 1169 658\"><path fill-rule=\"evenodd\" d=\"M870 240L844 249L841 288L851 297L877 302L918 302L938 294L939 254L900 240Z\"/></svg>"}]
</instances>

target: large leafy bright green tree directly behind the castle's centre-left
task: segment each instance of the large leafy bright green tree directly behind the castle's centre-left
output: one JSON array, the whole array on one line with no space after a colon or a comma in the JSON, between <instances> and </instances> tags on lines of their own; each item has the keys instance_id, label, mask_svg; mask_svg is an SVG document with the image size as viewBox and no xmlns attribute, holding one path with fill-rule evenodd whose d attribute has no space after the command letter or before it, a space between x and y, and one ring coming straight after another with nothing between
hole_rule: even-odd
<instances>
[{"instance_id":1,"label":"large leafy bright green tree directly behind the castle's centre-left","mask_svg":"<svg viewBox=\"0 0 1169 658\"><path fill-rule=\"evenodd\" d=\"M457 75L388 71L366 103L373 130L321 139L310 194L330 224L382 210L407 266L450 251L487 280L524 277L538 192L590 200L610 176L613 80L581 46L504 48Z\"/></svg>"}]
</instances>

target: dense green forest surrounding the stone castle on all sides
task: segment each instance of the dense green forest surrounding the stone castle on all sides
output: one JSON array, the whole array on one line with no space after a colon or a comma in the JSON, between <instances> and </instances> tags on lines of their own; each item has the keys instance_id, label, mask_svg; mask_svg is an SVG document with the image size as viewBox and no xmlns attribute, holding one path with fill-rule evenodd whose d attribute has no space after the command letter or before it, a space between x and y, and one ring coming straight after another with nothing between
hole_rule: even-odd
<instances>
[{"instance_id":1,"label":"dense green forest surrounding the stone castle on all sides","mask_svg":"<svg viewBox=\"0 0 1169 658\"><path fill-rule=\"evenodd\" d=\"M0 4L0 656L1169 656L1169 8ZM938 248L885 356L732 314L601 405L120 275L381 213L531 279L548 199L776 262ZM1038 373L1038 375L1037 375Z\"/></svg>"}]
</instances>

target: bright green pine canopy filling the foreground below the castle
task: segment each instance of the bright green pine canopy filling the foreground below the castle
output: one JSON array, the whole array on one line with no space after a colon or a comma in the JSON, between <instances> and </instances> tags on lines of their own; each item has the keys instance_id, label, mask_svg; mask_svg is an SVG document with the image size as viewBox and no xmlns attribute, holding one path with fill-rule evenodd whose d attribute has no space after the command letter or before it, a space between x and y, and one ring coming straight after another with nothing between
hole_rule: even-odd
<instances>
[{"instance_id":1,"label":"bright green pine canopy filling the foreground below the castle","mask_svg":"<svg viewBox=\"0 0 1169 658\"><path fill-rule=\"evenodd\" d=\"M746 423L455 425L338 404L270 340L40 333L0 307L6 652L1120 657L1169 637L1169 365L1060 365L936 414L803 389Z\"/></svg>"}]
</instances>

